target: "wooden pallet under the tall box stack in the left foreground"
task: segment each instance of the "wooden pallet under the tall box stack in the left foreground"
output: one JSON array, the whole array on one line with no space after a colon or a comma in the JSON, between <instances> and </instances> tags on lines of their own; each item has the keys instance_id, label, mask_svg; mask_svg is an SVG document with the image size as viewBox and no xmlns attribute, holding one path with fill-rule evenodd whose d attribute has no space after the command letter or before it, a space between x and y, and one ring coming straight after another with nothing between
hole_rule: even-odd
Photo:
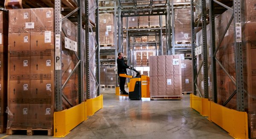
<instances>
[{"instance_id":1,"label":"wooden pallet under the tall box stack in the left foreground","mask_svg":"<svg viewBox=\"0 0 256 139\"><path fill-rule=\"evenodd\" d=\"M47 131L47 136L52 136L52 129L49 128L9 128L6 130L7 135L13 135L15 131L26 131L28 136L34 135L34 131Z\"/></svg>"}]
</instances>

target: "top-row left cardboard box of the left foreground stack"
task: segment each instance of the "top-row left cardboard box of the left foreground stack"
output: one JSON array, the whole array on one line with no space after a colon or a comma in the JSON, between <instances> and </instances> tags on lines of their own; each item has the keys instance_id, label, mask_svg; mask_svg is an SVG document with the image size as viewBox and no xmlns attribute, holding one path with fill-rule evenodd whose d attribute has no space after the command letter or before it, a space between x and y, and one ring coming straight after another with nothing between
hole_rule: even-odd
<instances>
[{"instance_id":1,"label":"top-row left cardboard box of the left foreground stack","mask_svg":"<svg viewBox=\"0 0 256 139\"><path fill-rule=\"evenodd\" d=\"M30 32L26 28L26 23L30 23L30 9L12 9L9 10L9 33Z\"/></svg>"}]
</instances>

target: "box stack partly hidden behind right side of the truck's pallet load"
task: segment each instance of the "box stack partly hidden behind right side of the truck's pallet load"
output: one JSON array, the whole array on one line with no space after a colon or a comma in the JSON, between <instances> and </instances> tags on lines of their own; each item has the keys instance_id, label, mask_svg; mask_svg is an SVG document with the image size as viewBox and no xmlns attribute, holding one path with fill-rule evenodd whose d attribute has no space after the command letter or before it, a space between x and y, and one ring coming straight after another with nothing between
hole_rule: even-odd
<instances>
[{"instance_id":1,"label":"box stack partly hidden behind right side of the truck's pallet load","mask_svg":"<svg viewBox=\"0 0 256 139\"><path fill-rule=\"evenodd\" d=\"M192 61L181 60L182 92L192 92Z\"/></svg>"}]
</instances>

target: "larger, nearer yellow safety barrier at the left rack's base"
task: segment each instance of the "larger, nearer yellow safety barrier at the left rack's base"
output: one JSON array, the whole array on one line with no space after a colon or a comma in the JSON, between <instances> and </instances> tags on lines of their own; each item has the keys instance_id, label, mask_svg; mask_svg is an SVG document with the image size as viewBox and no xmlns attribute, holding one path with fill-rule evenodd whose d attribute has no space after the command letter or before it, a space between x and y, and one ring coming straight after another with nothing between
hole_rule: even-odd
<instances>
[{"instance_id":1,"label":"larger, nearer yellow safety barrier at the left rack's base","mask_svg":"<svg viewBox=\"0 0 256 139\"><path fill-rule=\"evenodd\" d=\"M54 137L64 137L84 120L87 120L86 103L54 113Z\"/></svg>"}]
</instances>

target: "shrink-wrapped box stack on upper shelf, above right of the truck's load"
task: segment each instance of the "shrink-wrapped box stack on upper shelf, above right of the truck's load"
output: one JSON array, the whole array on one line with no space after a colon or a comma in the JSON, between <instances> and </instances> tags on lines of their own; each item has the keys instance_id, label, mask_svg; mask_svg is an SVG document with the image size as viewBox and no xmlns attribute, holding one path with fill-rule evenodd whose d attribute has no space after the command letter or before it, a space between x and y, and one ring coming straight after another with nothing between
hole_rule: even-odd
<instances>
[{"instance_id":1,"label":"shrink-wrapped box stack on upper shelf, above right of the truck's load","mask_svg":"<svg viewBox=\"0 0 256 139\"><path fill-rule=\"evenodd\" d=\"M175 44L191 42L191 12L189 8L175 9Z\"/></svg>"}]
</instances>

